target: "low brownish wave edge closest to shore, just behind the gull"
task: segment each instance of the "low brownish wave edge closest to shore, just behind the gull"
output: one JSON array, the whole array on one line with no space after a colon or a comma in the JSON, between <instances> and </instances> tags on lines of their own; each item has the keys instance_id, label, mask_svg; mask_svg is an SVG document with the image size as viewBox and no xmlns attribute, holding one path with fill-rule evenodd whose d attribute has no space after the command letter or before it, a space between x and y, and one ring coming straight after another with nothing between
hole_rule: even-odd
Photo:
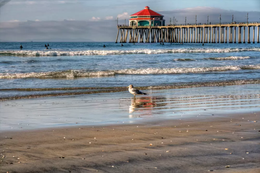
<instances>
[{"instance_id":1,"label":"low brownish wave edge closest to shore, just behind the gull","mask_svg":"<svg viewBox=\"0 0 260 173\"><path fill-rule=\"evenodd\" d=\"M242 85L242 84L258 84L260 79L247 79L247 80L230 80L230 81L215 81L215 82L192 82L192 83L178 83L169 85L156 85L156 86L142 86L138 87L140 90L148 89L175 89L175 88L192 88L192 87L203 87L203 86L224 86L224 85ZM79 94L94 94L94 93L105 93L105 92L121 92L127 91L126 87L72 87L72 88L12 88L12 89L0 89L4 92L5 90L17 90L17 91L32 91L26 95L16 95L11 97L1 97L0 101L20 98L37 98L37 97L48 97L48 96L64 96L64 95L79 95ZM55 90L52 93L44 93L46 91ZM57 90L66 90L64 92L57 93ZM41 93L33 94L33 91L40 91Z\"/></svg>"}]
</instances>

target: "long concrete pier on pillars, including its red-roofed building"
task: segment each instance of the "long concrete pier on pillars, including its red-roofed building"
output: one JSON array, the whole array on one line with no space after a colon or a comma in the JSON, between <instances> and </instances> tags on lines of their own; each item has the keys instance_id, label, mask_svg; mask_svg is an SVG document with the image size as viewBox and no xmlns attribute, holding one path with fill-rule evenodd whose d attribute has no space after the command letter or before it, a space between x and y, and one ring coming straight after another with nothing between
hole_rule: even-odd
<instances>
[{"instance_id":1,"label":"long concrete pier on pillars, including its red-roofed building","mask_svg":"<svg viewBox=\"0 0 260 173\"><path fill-rule=\"evenodd\" d=\"M220 15L219 23L197 23L196 19L196 23L191 24L165 24L164 16L150 10L148 6L130 17L129 25L117 26L115 43L118 43L120 35L120 43L126 43L127 39L129 43L246 43L246 27L247 43L251 43L251 27L253 28L252 43L255 43L255 29L257 29L257 43L259 43L260 21L221 23ZM243 40L241 40L242 31ZM237 32L238 38L236 38Z\"/></svg>"}]
</instances>

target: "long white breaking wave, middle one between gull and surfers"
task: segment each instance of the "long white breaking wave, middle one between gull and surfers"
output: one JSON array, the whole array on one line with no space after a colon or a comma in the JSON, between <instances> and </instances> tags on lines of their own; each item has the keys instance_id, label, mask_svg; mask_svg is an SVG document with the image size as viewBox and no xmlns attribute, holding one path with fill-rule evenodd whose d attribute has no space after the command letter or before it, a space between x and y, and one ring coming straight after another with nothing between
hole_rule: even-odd
<instances>
[{"instance_id":1,"label":"long white breaking wave, middle one between gull and surfers","mask_svg":"<svg viewBox=\"0 0 260 173\"><path fill-rule=\"evenodd\" d=\"M0 73L0 78L74 78L74 77L91 77L91 76L113 76L122 75L139 75L139 74L183 74L183 73L200 73L215 72L227 70L246 70L260 69L258 65L244 66L219 66L219 67L197 67L197 68L146 68L146 69L122 69L107 71L84 71L84 70L66 70L66 71L50 71L50 72L31 72L31 73Z\"/></svg>"}]
</instances>

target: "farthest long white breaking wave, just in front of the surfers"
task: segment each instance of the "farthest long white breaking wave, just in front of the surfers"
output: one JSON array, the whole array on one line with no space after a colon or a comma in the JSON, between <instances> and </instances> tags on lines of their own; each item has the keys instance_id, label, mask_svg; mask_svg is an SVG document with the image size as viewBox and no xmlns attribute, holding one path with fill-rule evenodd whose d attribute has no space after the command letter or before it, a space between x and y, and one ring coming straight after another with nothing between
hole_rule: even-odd
<instances>
[{"instance_id":1,"label":"farthest long white breaking wave, just in front of the surfers","mask_svg":"<svg viewBox=\"0 0 260 173\"><path fill-rule=\"evenodd\" d=\"M55 51L55 50L15 50L0 51L0 55L13 56L74 56L74 55L120 55L120 54L166 54L166 53L225 53L241 51L260 51L260 48L187 48L187 49L136 49L136 50L85 50L85 51Z\"/></svg>"}]
</instances>

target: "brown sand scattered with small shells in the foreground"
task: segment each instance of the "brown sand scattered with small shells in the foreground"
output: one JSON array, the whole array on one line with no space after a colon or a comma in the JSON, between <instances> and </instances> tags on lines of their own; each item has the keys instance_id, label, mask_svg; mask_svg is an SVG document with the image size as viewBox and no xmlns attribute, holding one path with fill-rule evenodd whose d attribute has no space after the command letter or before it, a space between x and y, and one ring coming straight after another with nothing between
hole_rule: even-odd
<instances>
[{"instance_id":1,"label":"brown sand scattered with small shells in the foreground","mask_svg":"<svg viewBox=\"0 0 260 173\"><path fill-rule=\"evenodd\" d=\"M0 171L260 172L259 117L2 131Z\"/></svg>"}]
</instances>

